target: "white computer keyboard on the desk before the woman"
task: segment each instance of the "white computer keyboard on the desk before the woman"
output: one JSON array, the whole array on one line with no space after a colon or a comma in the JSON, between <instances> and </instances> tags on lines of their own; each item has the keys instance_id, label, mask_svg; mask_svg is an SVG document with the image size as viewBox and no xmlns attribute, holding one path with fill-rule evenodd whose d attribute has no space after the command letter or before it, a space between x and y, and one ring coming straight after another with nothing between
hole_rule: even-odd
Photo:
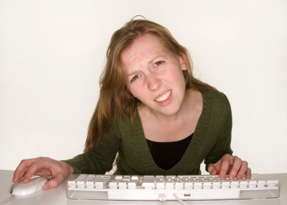
<instances>
[{"instance_id":1,"label":"white computer keyboard on the desk before the woman","mask_svg":"<svg viewBox=\"0 0 287 205\"><path fill-rule=\"evenodd\" d=\"M214 200L279 197L277 180L252 174L251 179L221 180L219 176L129 176L80 174L68 181L69 199L98 200Z\"/></svg>"}]
</instances>

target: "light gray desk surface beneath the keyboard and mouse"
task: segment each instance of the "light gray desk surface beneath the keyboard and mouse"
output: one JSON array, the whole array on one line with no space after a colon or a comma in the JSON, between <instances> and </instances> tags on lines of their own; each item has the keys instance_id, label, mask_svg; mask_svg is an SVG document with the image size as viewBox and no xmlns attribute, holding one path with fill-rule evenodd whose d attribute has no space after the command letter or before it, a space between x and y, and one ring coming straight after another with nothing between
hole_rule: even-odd
<instances>
[{"instance_id":1,"label":"light gray desk surface beneath the keyboard and mouse","mask_svg":"<svg viewBox=\"0 0 287 205\"><path fill-rule=\"evenodd\" d=\"M264 174L266 178L269 179L278 179L281 183L280 197L278 199L244 199L244 200L218 200L218 201L186 201L188 204L248 204L248 205L277 205L277 204L287 204L287 173L285 174ZM60 184L57 188L51 190L41 191L36 193L31 197L20 198L16 197L11 201L7 202L5 205L12 204L41 204L41 205L52 205L52 204L69 204L69 205L91 205L91 204L100 204L100 205L116 205L116 204L158 204L161 202L120 202L120 201L93 201L93 200L71 200L66 198L66 181L73 180L77 178L78 175L70 175L66 180ZM10 199L9 188L12 185L13 171L10 170L0 170L0 204L5 202L7 199ZM165 202L165 205L180 205L179 202Z\"/></svg>"}]
</instances>

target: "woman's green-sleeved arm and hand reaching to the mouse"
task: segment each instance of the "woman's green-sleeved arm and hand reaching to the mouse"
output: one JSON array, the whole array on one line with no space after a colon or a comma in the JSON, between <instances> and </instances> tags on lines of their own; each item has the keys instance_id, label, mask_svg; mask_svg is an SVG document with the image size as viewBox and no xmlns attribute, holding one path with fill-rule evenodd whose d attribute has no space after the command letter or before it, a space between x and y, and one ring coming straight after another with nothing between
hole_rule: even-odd
<instances>
[{"instance_id":1,"label":"woman's green-sleeved arm and hand reaching to the mouse","mask_svg":"<svg viewBox=\"0 0 287 205\"><path fill-rule=\"evenodd\" d=\"M35 172L42 172L52 176L52 179L44 185L44 190L48 190L57 187L70 174L104 174L110 171L120 147L120 139L115 133L116 129L109 130L92 153L84 153L65 161L52 160L48 157L22 160L14 172L13 182L24 176L23 183L27 183Z\"/></svg>"}]
</instances>

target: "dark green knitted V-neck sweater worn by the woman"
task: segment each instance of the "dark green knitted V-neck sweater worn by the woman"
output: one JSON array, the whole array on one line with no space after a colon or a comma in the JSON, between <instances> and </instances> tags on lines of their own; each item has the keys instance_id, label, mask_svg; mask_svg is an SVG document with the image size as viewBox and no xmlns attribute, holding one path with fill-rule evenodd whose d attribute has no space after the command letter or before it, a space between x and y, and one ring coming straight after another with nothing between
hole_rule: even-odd
<instances>
[{"instance_id":1,"label":"dark green knitted V-neck sweater worn by the woman","mask_svg":"<svg viewBox=\"0 0 287 205\"><path fill-rule=\"evenodd\" d=\"M213 90L202 92L203 108L197 122L193 139L181 161L172 169L165 170L153 161L141 119L137 111L134 128L127 122L113 125L102 136L99 146L90 154L82 154L71 160L64 160L73 167L73 174L105 174L111 171L116 154L119 162L115 174L121 175L186 175L201 174L200 164L214 164L225 154L232 154L230 148L232 115L225 94Z\"/></svg>"}]
</instances>

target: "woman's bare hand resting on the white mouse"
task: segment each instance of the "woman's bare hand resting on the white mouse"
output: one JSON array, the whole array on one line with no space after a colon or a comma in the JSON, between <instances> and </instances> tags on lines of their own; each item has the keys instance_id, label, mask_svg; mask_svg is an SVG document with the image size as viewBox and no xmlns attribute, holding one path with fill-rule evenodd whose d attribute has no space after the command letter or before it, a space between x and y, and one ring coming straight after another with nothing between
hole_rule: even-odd
<instances>
[{"instance_id":1,"label":"woman's bare hand resting on the white mouse","mask_svg":"<svg viewBox=\"0 0 287 205\"><path fill-rule=\"evenodd\" d=\"M73 167L66 162L52 160L48 157L22 160L14 172L13 183L23 176L23 183L27 183L35 172L42 172L52 176L52 179L44 185L44 190L49 190L57 187L65 178L73 174Z\"/></svg>"}]
</instances>

